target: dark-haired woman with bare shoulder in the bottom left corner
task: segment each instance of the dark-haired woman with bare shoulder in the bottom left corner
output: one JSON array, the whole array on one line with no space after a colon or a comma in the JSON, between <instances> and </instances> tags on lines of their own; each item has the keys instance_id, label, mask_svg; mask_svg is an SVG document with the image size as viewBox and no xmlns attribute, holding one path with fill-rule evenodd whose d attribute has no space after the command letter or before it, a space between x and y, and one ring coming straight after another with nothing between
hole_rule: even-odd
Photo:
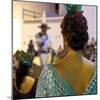
<instances>
[{"instance_id":1,"label":"dark-haired woman with bare shoulder in the bottom left corner","mask_svg":"<svg viewBox=\"0 0 100 100\"><path fill-rule=\"evenodd\" d=\"M23 61L19 63L19 68L16 71L16 79L14 81L14 99L34 98L36 93L37 79L31 77L30 63Z\"/></svg>"}]
</instances>

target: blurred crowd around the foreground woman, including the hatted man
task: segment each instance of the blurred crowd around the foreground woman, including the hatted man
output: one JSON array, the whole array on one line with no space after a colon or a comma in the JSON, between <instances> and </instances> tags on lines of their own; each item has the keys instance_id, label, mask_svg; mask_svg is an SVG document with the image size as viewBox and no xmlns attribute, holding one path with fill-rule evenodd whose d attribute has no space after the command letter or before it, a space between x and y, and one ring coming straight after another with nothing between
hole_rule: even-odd
<instances>
[{"instance_id":1,"label":"blurred crowd around the foreground woman, including the hatted man","mask_svg":"<svg viewBox=\"0 0 100 100\"><path fill-rule=\"evenodd\" d=\"M50 28L46 24L42 24L40 28L41 32L36 35L38 50L35 50L34 42L31 39L28 43L27 50L25 50L26 52L17 50L13 55L14 98L34 98L37 81L42 68L47 64L58 62L64 58L67 53L67 50L63 50L62 46L59 46L57 51L52 48L51 41L46 34L47 29ZM84 48L83 56L92 62L96 62L97 42L94 38L92 38L91 42ZM33 62L36 57L40 59L40 66L37 66ZM36 69L34 69L35 67ZM39 67L41 70L37 71ZM38 75L38 78L35 75Z\"/></svg>"}]
</instances>

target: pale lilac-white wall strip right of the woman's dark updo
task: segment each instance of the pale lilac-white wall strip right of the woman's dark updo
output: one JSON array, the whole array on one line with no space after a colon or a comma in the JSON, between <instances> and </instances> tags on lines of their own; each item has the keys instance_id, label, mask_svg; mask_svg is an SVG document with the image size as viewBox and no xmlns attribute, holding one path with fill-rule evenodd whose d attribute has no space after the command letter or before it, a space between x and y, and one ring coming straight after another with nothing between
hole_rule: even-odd
<instances>
[{"instance_id":1,"label":"pale lilac-white wall strip right of the woman's dark updo","mask_svg":"<svg viewBox=\"0 0 100 100\"><path fill-rule=\"evenodd\" d=\"M88 33L89 38L91 41L91 38L94 37L96 40L96 34L97 34L97 13L96 13L96 7L95 6L83 6L84 15L87 18L88 22Z\"/></svg>"}]
</instances>

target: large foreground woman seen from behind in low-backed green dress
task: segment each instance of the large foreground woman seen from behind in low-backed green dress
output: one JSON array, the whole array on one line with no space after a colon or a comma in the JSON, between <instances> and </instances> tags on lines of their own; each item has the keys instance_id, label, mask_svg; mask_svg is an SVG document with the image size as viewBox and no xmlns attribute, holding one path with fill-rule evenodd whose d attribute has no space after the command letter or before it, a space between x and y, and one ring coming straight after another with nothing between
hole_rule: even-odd
<instances>
[{"instance_id":1,"label":"large foreground woman seen from behind in low-backed green dress","mask_svg":"<svg viewBox=\"0 0 100 100\"><path fill-rule=\"evenodd\" d=\"M97 94L96 67L82 50L88 42L87 19L77 5L71 5L61 23L66 54L56 64L44 66L36 97Z\"/></svg>"}]
</instances>

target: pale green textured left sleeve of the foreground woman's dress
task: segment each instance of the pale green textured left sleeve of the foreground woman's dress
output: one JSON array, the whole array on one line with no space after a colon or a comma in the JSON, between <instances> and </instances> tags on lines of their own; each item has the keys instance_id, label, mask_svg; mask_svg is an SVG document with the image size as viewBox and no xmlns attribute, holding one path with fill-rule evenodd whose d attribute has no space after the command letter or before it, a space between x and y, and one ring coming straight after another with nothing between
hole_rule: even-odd
<instances>
[{"instance_id":1,"label":"pale green textured left sleeve of the foreground woman's dress","mask_svg":"<svg viewBox=\"0 0 100 100\"><path fill-rule=\"evenodd\" d=\"M48 97L53 95L55 82L53 81L53 72L49 65L44 66L39 77L36 97Z\"/></svg>"}]
</instances>

